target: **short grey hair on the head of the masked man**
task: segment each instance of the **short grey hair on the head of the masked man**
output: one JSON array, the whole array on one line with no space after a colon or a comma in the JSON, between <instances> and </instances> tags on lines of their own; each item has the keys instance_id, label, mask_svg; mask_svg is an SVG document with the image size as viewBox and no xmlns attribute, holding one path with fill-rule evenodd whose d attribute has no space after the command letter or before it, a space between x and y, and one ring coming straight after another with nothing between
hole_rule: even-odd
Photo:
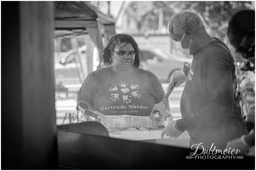
<instances>
[{"instance_id":1,"label":"short grey hair on the head of the masked man","mask_svg":"<svg viewBox=\"0 0 256 171\"><path fill-rule=\"evenodd\" d=\"M180 11L174 15L169 22L169 33L174 41L181 38L185 31L190 31L194 34L206 33L201 18L191 11Z\"/></svg>"}]
</instances>

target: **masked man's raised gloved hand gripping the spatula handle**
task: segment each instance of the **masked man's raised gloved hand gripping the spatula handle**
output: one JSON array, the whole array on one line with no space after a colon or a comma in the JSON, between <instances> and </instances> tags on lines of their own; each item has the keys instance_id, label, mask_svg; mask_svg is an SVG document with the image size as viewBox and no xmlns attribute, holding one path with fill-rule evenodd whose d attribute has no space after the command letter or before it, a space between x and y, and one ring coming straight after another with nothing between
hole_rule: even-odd
<instances>
[{"instance_id":1,"label":"masked man's raised gloved hand gripping the spatula handle","mask_svg":"<svg viewBox=\"0 0 256 171\"><path fill-rule=\"evenodd\" d=\"M184 82L186 81L186 75L185 73L181 70L177 70L177 71L174 71L171 75L171 77L168 79L168 82L169 82L169 85L168 87L166 88L166 90L168 91L173 83L177 82L175 87L178 87L180 86L181 84L183 84Z\"/></svg>"}]
</instances>

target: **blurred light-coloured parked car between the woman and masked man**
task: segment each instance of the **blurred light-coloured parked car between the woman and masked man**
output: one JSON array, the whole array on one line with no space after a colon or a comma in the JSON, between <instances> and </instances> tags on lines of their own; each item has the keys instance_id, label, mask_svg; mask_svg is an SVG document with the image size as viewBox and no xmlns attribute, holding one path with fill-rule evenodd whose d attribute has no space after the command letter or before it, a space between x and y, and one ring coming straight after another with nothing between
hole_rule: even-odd
<instances>
[{"instance_id":1,"label":"blurred light-coloured parked car between the woman and masked man","mask_svg":"<svg viewBox=\"0 0 256 171\"><path fill-rule=\"evenodd\" d=\"M147 61L142 69L153 72L161 82L167 82L172 73L180 70L184 63L192 63L192 59L175 56L160 49L140 49L140 58ZM144 64L145 65L145 64Z\"/></svg>"}]
</instances>

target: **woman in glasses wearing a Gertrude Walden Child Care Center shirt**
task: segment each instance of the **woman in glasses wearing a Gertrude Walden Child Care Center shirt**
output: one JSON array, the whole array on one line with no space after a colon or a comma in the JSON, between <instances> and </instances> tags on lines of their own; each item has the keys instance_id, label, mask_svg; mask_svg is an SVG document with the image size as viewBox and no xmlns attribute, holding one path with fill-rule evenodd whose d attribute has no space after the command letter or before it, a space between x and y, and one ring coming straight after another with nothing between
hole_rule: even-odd
<instances>
[{"instance_id":1,"label":"woman in glasses wearing a Gertrude Walden Child Care Center shirt","mask_svg":"<svg viewBox=\"0 0 256 171\"><path fill-rule=\"evenodd\" d=\"M97 115L149 116L153 106L163 100L164 90L152 72L138 68L139 53L132 36L116 34L110 38L102 55L108 67L87 76L78 92L76 109L84 114L79 105L84 103Z\"/></svg>"}]
</instances>

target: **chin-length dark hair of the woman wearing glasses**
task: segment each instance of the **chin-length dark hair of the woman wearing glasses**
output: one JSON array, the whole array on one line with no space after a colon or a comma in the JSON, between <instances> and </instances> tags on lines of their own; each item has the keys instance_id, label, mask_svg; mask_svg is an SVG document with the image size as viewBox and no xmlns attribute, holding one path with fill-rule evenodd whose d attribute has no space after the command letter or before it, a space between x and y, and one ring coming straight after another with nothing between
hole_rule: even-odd
<instances>
[{"instance_id":1,"label":"chin-length dark hair of the woman wearing glasses","mask_svg":"<svg viewBox=\"0 0 256 171\"><path fill-rule=\"evenodd\" d=\"M132 47L134 48L134 51L136 53L133 66L135 68L138 68L140 65L140 50L138 47L138 44L136 41L132 38L132 36L128 34L116 34L113 37L111 37L108 41L107 47L102 51L102 58L104 61L104 64L106 66L110 66L113 62L110 61L111 58L111 52L116 48L116 46L120 46L121 43L126 42L130 43ZM126 44L125 44L126 45Z\"/></svg>"}]
</instances>

